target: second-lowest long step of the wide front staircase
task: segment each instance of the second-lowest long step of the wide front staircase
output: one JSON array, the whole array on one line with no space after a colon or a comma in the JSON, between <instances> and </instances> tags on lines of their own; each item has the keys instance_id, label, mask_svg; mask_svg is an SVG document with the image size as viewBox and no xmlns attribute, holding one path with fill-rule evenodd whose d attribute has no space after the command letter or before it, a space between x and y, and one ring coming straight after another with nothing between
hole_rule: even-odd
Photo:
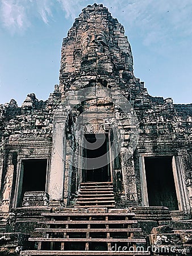
<instances>
[{"instance_id":1,"label":"second-lowest long step of the wide front staircase","mask_svg":"<svg viewBox=\"0 0 192 256\"><path fill-rule=\"evenodd\" d=\"M132 242L146 243L144 238L43 238L30 237L31 242Z\"/></svg>"}]
</instances>

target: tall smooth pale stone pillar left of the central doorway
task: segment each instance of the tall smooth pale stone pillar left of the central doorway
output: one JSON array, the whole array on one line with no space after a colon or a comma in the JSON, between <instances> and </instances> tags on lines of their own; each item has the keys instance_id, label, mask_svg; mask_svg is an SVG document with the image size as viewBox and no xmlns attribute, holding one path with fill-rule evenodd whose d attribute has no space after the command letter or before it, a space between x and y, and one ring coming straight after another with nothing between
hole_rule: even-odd
<instances>
[{"instance_id":1,"label":"tall smooth pale stone pillar left of the central doorway","mask_svg":"<svg viewBox=\"0 0 192 256\"><path fill-rule=\"evenodd\" d=\"M53 146L48 193L50 203L58 206L61 205L64 193L66 116L61 106L53 117Z\"/></svg>"}]
</instances>

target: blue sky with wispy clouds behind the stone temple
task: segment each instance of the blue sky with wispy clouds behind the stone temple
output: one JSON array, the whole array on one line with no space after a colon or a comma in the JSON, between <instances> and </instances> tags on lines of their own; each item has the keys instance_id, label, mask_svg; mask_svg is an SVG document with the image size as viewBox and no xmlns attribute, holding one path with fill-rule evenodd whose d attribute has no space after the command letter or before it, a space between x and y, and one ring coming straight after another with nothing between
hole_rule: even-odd
<instances>
[{"instance_id":1,"label":"blue sky with wispy clouds behind the stone temple","mask_svg":"<svg viewBox=\"0 0 192 256\"><path fill-rule=\"evenodd\" d=\"M62 38L82 8L103 3L125 28L134 73L152 96L192 102L191 0L1 0L0 103L46 100L59 84Z\"/></svg>"}]
</instances>

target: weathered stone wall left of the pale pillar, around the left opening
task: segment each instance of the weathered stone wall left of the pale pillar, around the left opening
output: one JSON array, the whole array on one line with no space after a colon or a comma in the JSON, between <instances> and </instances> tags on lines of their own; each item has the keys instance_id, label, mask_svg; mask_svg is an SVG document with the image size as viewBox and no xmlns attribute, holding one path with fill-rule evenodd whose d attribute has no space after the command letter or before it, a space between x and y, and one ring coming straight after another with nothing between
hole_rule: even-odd
<instances>
[{"instance_id":1,"label":"weathered stone wall left of the pale pillar, around the left opening","mask_svg":"<svg viewBox=\"0 0 192 256\"><path fill-rule=\"evenodd\" d=\"M15 100L0 108L0 210L9 212L16 204L21 159L51 157L53 109L61 94L51 93L45 102L28 94L22 107ZM17 188L16 188L17 184Z\"/></svg>"}]
</instances>

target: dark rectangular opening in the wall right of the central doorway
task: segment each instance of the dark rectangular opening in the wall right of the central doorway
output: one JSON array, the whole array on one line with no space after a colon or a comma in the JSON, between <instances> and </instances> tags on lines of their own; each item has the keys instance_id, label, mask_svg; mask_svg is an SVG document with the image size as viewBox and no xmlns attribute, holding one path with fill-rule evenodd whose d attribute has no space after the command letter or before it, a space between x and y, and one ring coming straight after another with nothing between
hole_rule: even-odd
<instances>
[{"instance_id":1,"label":"dark rectangular opening in the wall right of the central doorway","mask_svg":"<svg viewBox=\"0 0 192 256\"><path fill-rule=\"evenodd\" d=\"M149 206L178 210L172 156L145 157Z\"/></svg>"}]
</instances>

